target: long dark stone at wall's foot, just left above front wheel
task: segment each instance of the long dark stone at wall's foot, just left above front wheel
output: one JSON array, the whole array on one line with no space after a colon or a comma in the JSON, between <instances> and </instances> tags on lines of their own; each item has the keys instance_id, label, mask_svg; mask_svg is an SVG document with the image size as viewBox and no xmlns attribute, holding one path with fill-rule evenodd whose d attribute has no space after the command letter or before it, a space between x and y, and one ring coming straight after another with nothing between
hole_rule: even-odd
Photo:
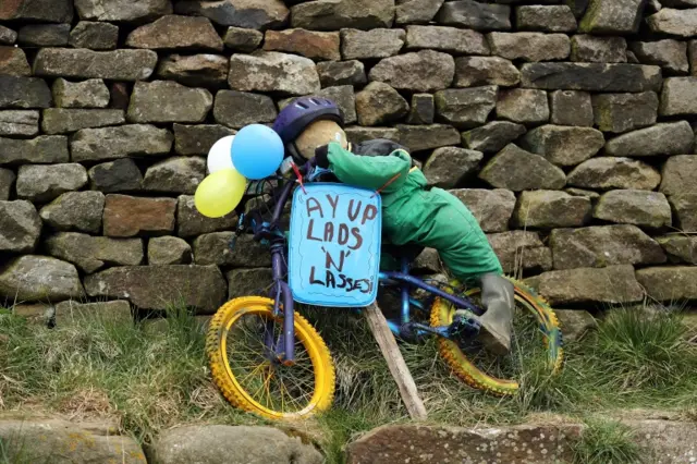
<instances>
[{"instance_id":1,"label":"long dark stone at wall's foot, just left above front wheel","mask_svg":"<svg viewBox=\"0 0 697 464\"><path fill-rule=\"evenodd\" d=\"M184 304L213 314L225 301L228 286L216 266L125 266L87 276L93 297L123 298L142 309Z\"/></svg>"}]
</instances>

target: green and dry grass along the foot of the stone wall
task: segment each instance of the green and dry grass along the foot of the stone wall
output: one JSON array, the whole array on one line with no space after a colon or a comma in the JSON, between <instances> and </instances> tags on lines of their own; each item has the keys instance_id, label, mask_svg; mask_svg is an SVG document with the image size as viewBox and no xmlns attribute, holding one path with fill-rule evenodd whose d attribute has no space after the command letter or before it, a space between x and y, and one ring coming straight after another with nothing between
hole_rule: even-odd
<instances>
[{"instance_id":1,"label":"green and dry grass along the foot of the stone wall","mask_svg":"<svg viewBox=\"0 0 697 464\"><path fill-rule=\"evenodd\" d=\"M338 376L334 406L306 424L306 431L330 462L341 462L342 447L356 434L408 417L363 318L342 309L305 314L330 346ZM432 423L517 424L547 413L585 419L624 408L692 412L697 418L697 349L687 342L680 313L643 314L612 310L597 331L566 347L557 377L524 363L514 398L464 386L432 339L402 345L402 352ZM159 329L98 316L48 329L0 312L0 411L107 417L142 442L179 423L266 424L224 402L210 381L204 345L200 322L176 308ZM620 459L632 455L628 432L597 423L588 430L575 450L586 460L580 462L629 462Z\"/></svg>"}]
</instances>

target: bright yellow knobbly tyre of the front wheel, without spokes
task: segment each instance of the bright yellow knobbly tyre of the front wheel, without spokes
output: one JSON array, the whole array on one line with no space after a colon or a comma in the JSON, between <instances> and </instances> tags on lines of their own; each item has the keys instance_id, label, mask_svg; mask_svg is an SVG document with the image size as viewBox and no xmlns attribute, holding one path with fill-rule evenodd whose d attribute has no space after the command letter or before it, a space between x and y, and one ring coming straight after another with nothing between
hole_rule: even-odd
<instances>
[{"instance_id":1,"label":"bright yellow knobbly tyre of the front wheel, without spokes","mask_svg":"<svg viewBox=\"0 0 697 464\"><path fill-rule=\"evenodd\" d=\"M307 405L297 412L276 411L262 405L245 391L228 362L228 332L244 315L256 314L282 323L282 316L273 316L273 300L244 296L221 306L210 321L206 337L206 353L216 387L230 404L267 419L298 419L329 408L333 401L335 373L327 344L315 328L294 313L295 338L299 340L313 362L315 390Z\"/></svg>"}]
</instances>

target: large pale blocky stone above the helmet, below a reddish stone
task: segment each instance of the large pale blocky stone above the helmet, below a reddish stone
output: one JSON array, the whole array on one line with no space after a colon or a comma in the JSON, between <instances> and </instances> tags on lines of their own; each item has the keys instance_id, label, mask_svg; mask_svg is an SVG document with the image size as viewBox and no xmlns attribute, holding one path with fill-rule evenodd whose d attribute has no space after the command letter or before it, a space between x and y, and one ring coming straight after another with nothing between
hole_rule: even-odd
<instances>
[{"instance_id":1,"label":"large pale blocky stone above the helmet, below a reddish stone","mask_svg":"<svg viewBox=\"0 0 697 464\"><path fill-rule=\"evenodd\" d=\"M297 96L320 89L313 60L278 51L233 54L228 83L235 90Z\"/></svg>"}]
</instances>

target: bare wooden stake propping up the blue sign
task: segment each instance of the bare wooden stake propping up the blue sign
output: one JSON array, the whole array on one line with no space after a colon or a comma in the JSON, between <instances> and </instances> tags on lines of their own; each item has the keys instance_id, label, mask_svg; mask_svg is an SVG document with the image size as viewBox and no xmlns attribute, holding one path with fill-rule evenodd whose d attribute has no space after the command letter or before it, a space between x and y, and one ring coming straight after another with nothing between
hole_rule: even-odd
<instances>
[{"instance_id":1,"label":"bare wooden stake propping up the blue sign","mask_svg":"<svg viewBox=\"0 0 697 464\"><path fill-rule=\"evenodd\" d=\"M406 406L406 411L408 411L409 416L413 419L426 419L426 407L424 407L424 402L418 395L414 378L412 377L408 367L406 367L400 346L396 344L396 340L394 340L394 335L392 334L382 312L378 305L374 303L366 308L365 314L366 319L368 319L368 325L370 326L370 331L372 331L372 335L380 346L382 356L384 356L384 361L388 363L390 373L400 389L400 394L402 395L402 401Z\"/></svg>"}]
</instances>

